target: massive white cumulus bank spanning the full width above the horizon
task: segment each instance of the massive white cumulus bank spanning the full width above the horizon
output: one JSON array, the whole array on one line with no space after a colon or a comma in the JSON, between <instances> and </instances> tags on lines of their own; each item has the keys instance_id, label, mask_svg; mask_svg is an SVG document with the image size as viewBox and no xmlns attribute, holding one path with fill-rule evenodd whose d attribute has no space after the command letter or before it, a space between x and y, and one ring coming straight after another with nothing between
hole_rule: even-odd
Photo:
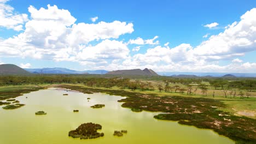
<instances>
[{"instance_id":1,"label":"massive white cumulus bank spanning the full width above the horizon","mask_svg":"<svg viewBox=\"0 0 256 144\"><path fill-rule=\"evenodd\" d=\"M56 5L40 9L30 6L28 11L31 19L25 23L24 32L0 39L0 57L72 61L85 65L87 69L147 67L156 71L256 70L256 63L243 63L237 58L256 50L256 8L247 11L240 21L232 23L222 33L212 35L195 47L190 44L169 47L169 43L160 46L158 36L120 41L121 35L134 31L132 23L76 23L68 10L59 9ZM212 28L214 25L218 23L208 24L207 27ZM151 48L131 56L131 44L136 45L131 51L139 51L142 45ZM225 59L232 62L218 65L219 60ZM29 63L21 65L31 67Z\"/></svg>"}]
</instances>

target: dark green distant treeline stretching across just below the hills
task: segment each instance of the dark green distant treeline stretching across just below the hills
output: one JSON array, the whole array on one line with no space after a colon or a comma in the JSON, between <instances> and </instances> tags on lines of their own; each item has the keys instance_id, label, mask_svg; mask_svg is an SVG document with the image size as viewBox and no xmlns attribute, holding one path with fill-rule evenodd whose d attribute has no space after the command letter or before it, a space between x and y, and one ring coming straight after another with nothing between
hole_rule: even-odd
<instances>
[{"instance_id":1,"label":"dark green distant treeline stretching across just below the hills","mask_svg":"<svg viewBox=\"0 0 256 144\"><path fill-rule=\"evenodd\" d=\"M103 77L104 76L104 77ZM148 82L140 82L139 79L149 80ZM130 81L132 80L132 81ZM242 88L242 89L254 89L256 87L256 79L236 78L236 79L224 79L224 78L177 78L168 76L108 76L108 75L30 75L19 76L10 75L0 76L0 86L4 85L26 85L26 84L57 84L57 83L82 83L91 87L123 87L134 88L146 87L146 89L153 89L150 80L160 80L163 83L181 83L183 85L189 85L193 83L201 84L202 82L209 82L215 89L229 88Z\"/></svg>"}]
</instances>

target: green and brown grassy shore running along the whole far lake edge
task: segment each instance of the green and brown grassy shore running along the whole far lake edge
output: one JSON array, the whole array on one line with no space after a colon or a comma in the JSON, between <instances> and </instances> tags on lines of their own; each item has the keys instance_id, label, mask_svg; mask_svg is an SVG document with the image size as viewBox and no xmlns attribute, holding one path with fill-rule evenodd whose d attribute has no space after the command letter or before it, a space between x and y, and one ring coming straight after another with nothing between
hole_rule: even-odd
<instances>
[{"instance_id":1,"label":"green and brown grassy shore running along the whole far lake edge","mask_svg":"<svg viewBox=\"0 0 256 144\"><path fill-rule=\"evenodd\" d=\"M155 81L157 83L158 81ZM183 85L181 85L182 87ZM212 129L220 135L229 137L237 143L255 143L256 142L256 118L255 101L251 97L228 97L225 98L216 94L202 95L200 91L196 94L141 91L136 89L124 89L120 87L88 87L83 84L65 84L65 85L25 85L25 86L7 86L0 87L0 98L10 99L32 91L38 91L46 87L62 87L83 93L107 93L110 95L120 95L126 97L122 102L123 107L139 111L158 111L160 115L154 116L156 119L178 121L180 124L194 125L197 128ZM213 89L210 89L211 91ZM255 93L255 92L252 92Z\"/></svg>"}]
</instances>

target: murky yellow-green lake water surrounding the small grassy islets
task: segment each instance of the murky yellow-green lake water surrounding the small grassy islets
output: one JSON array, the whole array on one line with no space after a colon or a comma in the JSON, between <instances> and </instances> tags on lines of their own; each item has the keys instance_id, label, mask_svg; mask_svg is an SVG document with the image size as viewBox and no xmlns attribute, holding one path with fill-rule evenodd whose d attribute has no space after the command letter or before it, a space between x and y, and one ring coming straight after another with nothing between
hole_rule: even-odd
<instances>
[{"instance_id":1,"label":"murky yellow-green lake water surrounding the small grassy islets","mask_svg":"<svg viewBox=\"0 0 256 144\"><path fill-rule=\"evenodd\" d=\"M89 102L88 97L91 98ZM0 143L234 143L212 130L159 121L153 118L157 113L132 112L117 102L123 98L103 93L66 92L56 88L24 94L16 99L25 106L15 110L0 109ZM92 109L90 106L95 104L106 106ZM74 109L79 112L74 113ZM40 110L47 112L47 115L34 114ZM104 136L92 140L68 137L68 131L87 122L101 124ZM121 129L128 133L123 137L113 136L114 130Z\"/></svg>"}]
</instances>

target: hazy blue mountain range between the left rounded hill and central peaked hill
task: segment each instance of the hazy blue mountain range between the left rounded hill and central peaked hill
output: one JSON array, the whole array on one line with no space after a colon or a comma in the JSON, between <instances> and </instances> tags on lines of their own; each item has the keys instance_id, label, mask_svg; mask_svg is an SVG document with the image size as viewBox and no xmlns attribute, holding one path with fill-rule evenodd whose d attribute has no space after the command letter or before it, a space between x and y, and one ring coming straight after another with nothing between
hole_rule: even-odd
<instances>
[{"instance_id":1,"label":"hazy blue mountain range between the left rounded hill and central peaked hill","mask_svg":"<svg viewBox=\"0 0 256 144\"><path fill-rule=\"evenodd\" d=\"M42 68L42 69L25 69L34 74L106 74L107 70L85 70L77 71L66 68Z\"/></svg>"}]
</instances>

